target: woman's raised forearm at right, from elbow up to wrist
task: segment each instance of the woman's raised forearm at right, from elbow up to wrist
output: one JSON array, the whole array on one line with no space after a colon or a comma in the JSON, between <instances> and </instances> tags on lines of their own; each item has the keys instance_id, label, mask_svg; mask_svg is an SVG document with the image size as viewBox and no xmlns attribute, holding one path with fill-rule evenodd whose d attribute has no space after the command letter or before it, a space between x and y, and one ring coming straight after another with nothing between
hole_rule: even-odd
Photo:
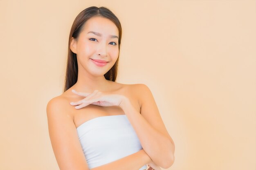
<instances>
[{"instance_id":1,"label":"woman's raised forearm at right, from elbow up to wrist","mask_svg":"<svg viewBox=\"0 0 256 170\"><path fill-rule=\"evenodd\" d=\"M162 168L173 162L174 146L162 133L151 126L148 121L125 99L120 106L132 124L142 148L155 164Z\"/></svg>"}]
</instances>

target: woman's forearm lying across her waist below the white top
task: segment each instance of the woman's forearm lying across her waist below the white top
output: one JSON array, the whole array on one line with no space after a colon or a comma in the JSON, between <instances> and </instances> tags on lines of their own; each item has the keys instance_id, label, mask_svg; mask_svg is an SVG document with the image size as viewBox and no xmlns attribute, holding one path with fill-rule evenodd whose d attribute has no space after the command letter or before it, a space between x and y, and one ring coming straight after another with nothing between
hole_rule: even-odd
<instances>
[{"instance_id":1,"label":"woman's forearm lying across her waist below the white top","mask_svg":"<svg viewBox=\"0 0 256 170\"><path fill-rule=\"evenodd\" d=\"M139 168L151 161L150 157L142 149L132 155L92 168L91 170L139 170Z\"/></svg>"}]
</instances>

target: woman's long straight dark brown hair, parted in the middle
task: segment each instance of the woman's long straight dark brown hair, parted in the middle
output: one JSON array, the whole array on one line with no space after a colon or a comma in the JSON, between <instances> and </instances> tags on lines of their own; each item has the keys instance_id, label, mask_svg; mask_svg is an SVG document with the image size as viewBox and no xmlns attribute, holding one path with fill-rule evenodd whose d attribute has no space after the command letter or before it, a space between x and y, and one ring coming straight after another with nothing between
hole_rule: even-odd
<instances>
[{"instance_id":1,"label":"woman's long straight dark brown hair, parted in the middle","mask_svg":"<svg viewBox=\"0 0 256 170\"><path fill-rule=\"evenodd\" d=\"M120 50L122 27L116 15L106 7L98 8L93 6L93 7L88 7L83 11L81 11L76 16L70 30L70 37L68 40L68 48L67 48L67 69L66 69L65 82L64 82L65 86L63 89L63 93L77 82L77 77L78 77L78 66L77 66L76 54L73 53L70 49L70 43L72 41L72 37L75 39L78 38L79 34L83 30L83 26L85 25L85 22L88 19L92 18L93 16L101 16L104 18L108 18L109 20L115 23L119 31L118 48ZM106 74L104 74L105 79L115 82L117 77L118 60L119 60L119 55L117 57L116 63L112 66L112 68L110 68L110 70Z\"/></svg>"}]
</instances>

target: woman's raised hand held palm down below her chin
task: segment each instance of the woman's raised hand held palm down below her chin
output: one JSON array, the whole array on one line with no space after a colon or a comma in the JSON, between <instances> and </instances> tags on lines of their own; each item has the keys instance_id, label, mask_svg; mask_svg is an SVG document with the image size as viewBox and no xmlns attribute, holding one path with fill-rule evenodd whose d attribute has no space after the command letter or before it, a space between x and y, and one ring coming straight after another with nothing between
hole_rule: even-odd
<instances>
[{"instance_id":1,"label":"woman's raised hand held palm down below her chin","mask_svg":"<svg viewBox=\"0 0 256 170\"><path fill-rule=\"evenodd\" d=\"M104 93L98 90L95 90L93 93L82 93L72 90L76 95L84 96L85 98L79 100L78 102L71 102L70 105L76 106L76 109L83 108L90 104L97 106L119 106L123 99L123 95ZM79 105L79 106L78 106Z\"/></svg>"}]
</instances>

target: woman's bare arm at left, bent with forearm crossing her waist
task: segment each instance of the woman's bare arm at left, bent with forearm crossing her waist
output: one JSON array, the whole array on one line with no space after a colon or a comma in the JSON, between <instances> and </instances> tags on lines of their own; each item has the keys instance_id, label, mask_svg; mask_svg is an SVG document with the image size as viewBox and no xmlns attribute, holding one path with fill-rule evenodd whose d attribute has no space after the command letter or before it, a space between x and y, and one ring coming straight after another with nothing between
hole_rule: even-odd
<instances>
[{"instance_id":1,"label":"woman's bare arm at left, bent with forearm crossing her waist","mask_svg":"<svg viewBox=\"0 0 256 170\"><path fill-rule=\"evenodd\" d=\"M89 170L73 118L67 114L61 97L51 99L47 104L49 137L60 170ZM132 155L92 168L92 170L139 170L152 160L144 150Z\"/></svg>"}]
</instances>

